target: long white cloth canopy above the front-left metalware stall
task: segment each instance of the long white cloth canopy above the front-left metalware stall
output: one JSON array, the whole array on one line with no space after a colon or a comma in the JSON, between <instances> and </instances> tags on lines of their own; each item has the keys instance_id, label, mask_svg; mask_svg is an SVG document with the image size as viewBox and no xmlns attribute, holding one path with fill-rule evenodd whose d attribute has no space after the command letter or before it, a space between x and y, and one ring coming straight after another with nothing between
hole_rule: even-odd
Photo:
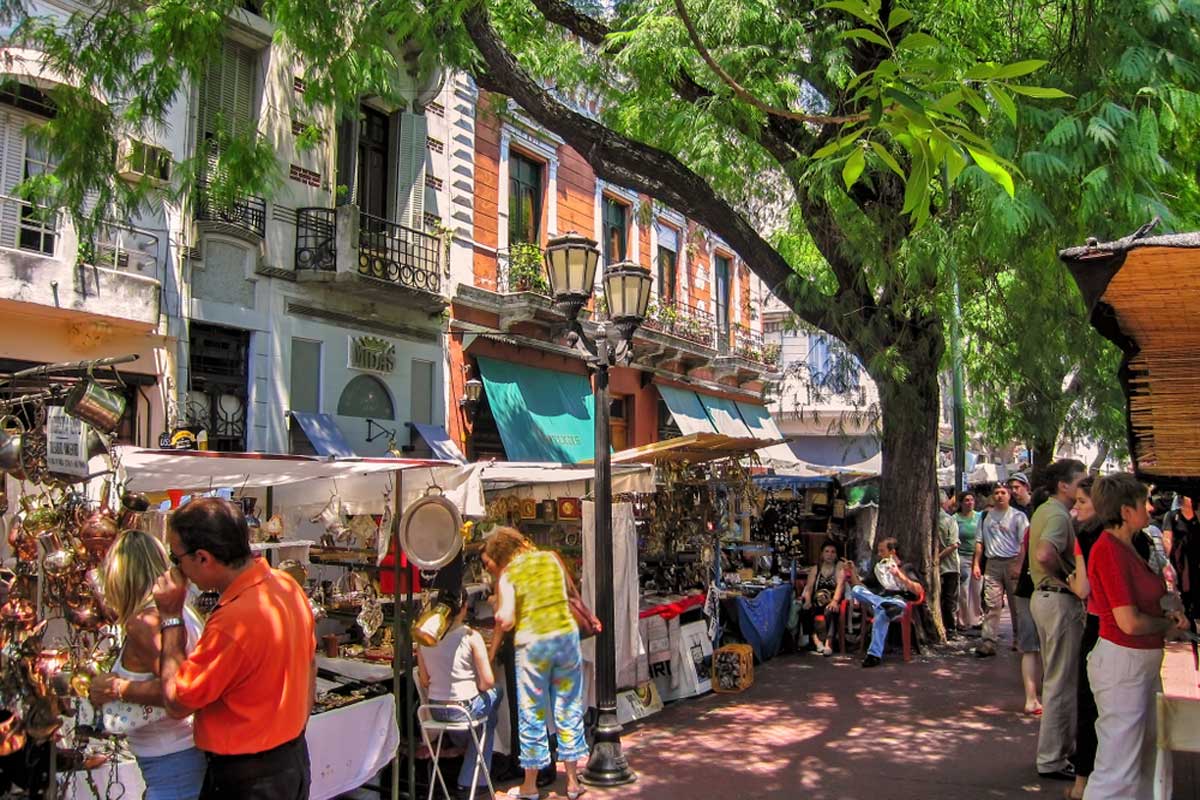
<instances>
[{"instance_id":1,"label":"long white cloth canopy above the front-left metalware stall","mask_svg":"<svg viewBox=\"0 0 1200 800\"><path fill-rule=\"evenodd\" d=\"M271 488L283 506L323 505L337 495L347 513L382 513L397 473L403 505L439 486L468 516L482 516L475 468L421 458L313 458L281 453L118 447L125 485L133 492ZM259 494L262 492L258 492Z\"/></svg>"}]
</instances>

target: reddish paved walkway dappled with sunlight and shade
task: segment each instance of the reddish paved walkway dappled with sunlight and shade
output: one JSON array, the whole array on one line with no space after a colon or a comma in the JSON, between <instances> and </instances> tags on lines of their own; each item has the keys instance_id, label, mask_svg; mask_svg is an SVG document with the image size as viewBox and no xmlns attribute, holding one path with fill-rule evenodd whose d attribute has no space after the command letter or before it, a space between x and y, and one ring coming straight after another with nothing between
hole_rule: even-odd
<instances>
[{"instance_id":1,"label":"reddish paved walkway dappled with sunlight and shade","mask_svg":"<svg viewBox=\"0 0 1200 800\"><path fill-rule=\"evenodd\" d=\"M740 694L668 705L626 729L631 786L595 800L1048 798L1068 786L1033 766L1038 721L1021 712L1019 661L976 639L863 669L851 656L781 656ZM1200 796L1200 759L1176 754L1175 798ZM565 780L553 787L565 798Z\"/></svg>"}]
</instances>

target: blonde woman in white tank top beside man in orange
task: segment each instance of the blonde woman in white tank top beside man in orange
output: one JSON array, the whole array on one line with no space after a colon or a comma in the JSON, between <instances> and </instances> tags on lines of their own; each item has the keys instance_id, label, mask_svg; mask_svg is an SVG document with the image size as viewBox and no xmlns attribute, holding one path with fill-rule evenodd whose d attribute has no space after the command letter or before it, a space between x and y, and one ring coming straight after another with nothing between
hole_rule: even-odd
<instances>
[{"instance_id":1,"label":"blonde woman in white tank top beside man in orange","mask_svg":"<svg viewBox=\"0 0 1200 800\"><path fill-rule=\"evenodd\" d=\"M90 699L100 708L108 703L130 706L161 706L158 680L158 612L155 608L155 581L170 569L167 549L154 536L140 530L121 534L101 567L104 604L121 627L124 643L112 673L97 675L91 682ZM203 622L190 607L184 609L187 649L200 634ZM142 770L145 800L194 800L204 783L205 759L192 741L192 717L173 720L164 712L148 714L140 727L126 733L130 750Z\"/></svg>"}]
</instances>

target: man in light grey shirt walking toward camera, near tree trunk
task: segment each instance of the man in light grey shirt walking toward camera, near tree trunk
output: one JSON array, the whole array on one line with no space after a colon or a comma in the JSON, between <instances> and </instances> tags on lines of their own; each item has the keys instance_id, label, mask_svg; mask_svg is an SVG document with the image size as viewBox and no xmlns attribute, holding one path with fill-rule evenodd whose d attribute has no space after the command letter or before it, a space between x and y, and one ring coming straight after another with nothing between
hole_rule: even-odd
<instances>
[{"instance_id":1,"label":"man in light grey shirt walking toward camera, near tree trunk","mask_svg":"<svg viewBox=\"0 0 1200 800\"><path fill-rule=\"evenodd\" d=\"M1013 608L1013 593L1016 590L1016 578L1021 575L1021 563L1016 557L1021 552L1021 540L1028 527L1028 518L1009 505L1008 487L998 483L991 493L991 511L984 515L979 524L979 540L976 542L974 566L972 575L983 577L983 640L976 648L980 658L996 655L996 634L1000 628L1001 600L1008 597L1008 607ZM988 566L983 567L983 557L988 557ZM1014 636L1016 619L1013 619Z\"/></svg>"}]
</instances>

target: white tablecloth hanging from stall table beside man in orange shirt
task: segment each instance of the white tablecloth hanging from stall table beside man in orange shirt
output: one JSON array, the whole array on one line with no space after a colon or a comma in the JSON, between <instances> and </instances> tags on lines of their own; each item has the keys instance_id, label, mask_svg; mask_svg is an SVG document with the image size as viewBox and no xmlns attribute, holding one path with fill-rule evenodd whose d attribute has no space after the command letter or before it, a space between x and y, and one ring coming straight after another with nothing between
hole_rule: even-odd
<instances>
[{"instance_id":1,"label":"white tablecloth hanging from stall table beside man in orange shirt","mask_svg":"<svg viewBox=\"0 0 1200 800\"><path fill-rule=\"evenodd\" d=\"M373 697L354 705L318 714L308 721L308 758L312 762L311 800L329 800L362 786L391 762L400 744L396 730L396 703L391 694ZM103 794L109 770L106 764L92 771ZM145 786L134 762L116 766L126 800L142 796ZM83 775L76 775L66 798L91 798Z\"/></svg>"}]
</instances>

